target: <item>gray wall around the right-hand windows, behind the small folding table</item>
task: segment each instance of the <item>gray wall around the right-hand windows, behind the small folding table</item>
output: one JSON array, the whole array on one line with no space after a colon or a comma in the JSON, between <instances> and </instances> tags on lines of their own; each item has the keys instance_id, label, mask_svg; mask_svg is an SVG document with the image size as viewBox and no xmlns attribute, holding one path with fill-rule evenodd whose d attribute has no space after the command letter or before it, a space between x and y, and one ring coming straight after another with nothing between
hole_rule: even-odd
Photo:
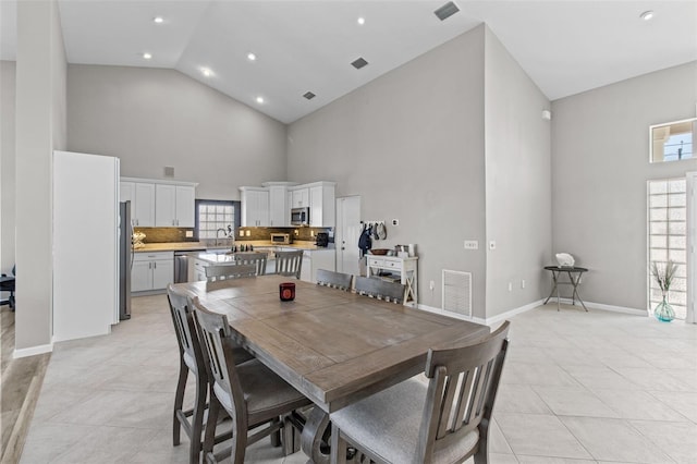
<instances>
[{"instance_id":1,"label":"gray wall around the right-hand windows, behind the small folding table","mask_svg":"<svg viewBox=\"0 0 697 464\"><path fill-rule=\"evenodd\" d=\"M650 164L648 127L695 117L696 101L693 62L552 103L553 253L590 269L584 300L646 308L646 181L697 170Z\"/></svg>"}]
</instances>

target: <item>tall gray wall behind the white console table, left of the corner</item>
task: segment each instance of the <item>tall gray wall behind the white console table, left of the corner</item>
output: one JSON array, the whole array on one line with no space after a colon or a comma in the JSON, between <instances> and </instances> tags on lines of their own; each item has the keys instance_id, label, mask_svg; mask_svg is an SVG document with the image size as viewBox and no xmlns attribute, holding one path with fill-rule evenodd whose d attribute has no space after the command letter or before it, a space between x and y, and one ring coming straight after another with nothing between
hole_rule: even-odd
<instances>
[{"instance_id":1,"label":"tall gray wall behind the white console table, left of the corner","mask_svg":"<svg viewBox=\"0 0 697 464\"><path fill-rule=\"evenodd\" d=\"M419 303L441 306L441 270L474 273L485 316L484 26L289 126L289 180L337 182L364 220L399 219L375 247L415 243ZM429 281L436 291L429 291Z\"/></svg>"}]
</instances>

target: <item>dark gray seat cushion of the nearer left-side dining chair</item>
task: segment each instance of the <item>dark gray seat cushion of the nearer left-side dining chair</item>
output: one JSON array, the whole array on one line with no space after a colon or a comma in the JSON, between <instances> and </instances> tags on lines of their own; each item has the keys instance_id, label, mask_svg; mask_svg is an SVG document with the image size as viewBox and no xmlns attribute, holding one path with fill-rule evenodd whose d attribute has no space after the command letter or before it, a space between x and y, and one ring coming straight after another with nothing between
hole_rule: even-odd
<instances>
[{"instance_id":1,"label":"dark gray seat cushion of the nearer left-side dining chair","mask_svg":"<svg viewBox=\"0 0 697 464\"><path fill-rule=\"evenodd\" d=\"M260 424L283 413L309 405L311 402L258 359L236 366L240 383L247 403L249 426ZM232 410L230 395L217 383L216 396L227 410Z\"/></svg>"}]
</instances>

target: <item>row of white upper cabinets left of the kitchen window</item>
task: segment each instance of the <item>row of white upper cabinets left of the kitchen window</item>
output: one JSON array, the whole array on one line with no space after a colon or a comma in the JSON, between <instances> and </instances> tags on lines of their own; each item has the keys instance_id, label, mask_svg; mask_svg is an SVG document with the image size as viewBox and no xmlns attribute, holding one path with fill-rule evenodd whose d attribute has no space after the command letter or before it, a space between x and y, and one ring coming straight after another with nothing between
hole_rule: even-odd
<instances>
[{"instance_id":1,"label":"row of white upper cabinets left of the kitchen window","mask_svg":"<svg viewBox=\"0 0 697 464\"><path fill-rule=\"evenodd\" d=\"M121 178L121 202L131 202L135 227L193 228L196 184Z\"/></svg>"}]
</instances>

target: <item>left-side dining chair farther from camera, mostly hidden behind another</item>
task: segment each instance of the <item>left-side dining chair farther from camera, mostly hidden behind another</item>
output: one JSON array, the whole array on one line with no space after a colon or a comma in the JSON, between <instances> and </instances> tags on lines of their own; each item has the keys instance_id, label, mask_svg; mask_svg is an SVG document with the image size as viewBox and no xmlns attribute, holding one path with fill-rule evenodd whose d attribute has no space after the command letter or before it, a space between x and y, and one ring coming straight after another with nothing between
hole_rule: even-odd
<instances>
[{"instance_id":1,"label":"left-side dining chair farther from camera, mostly hidden behind another","mask_svg":"<svg viewBox=\"0 0 697 464\"><path fill-rule=\"evenodd\" d=\"M179 445L181 442L181 430L183 429L189 444L189 463L200 461L201 432L204 430L204 412L207 408L206 396L208 395L208 374L204 364L204 355L198 340L198 333L194 327L193 313L189 310L186 295L178 293L172 284L167 288L167 296L170 304L170 314L174 323L174 332L179 343L180 369L176 392L174 393L174 410L172 413L172 444ZM252 355L244 349L234 349L235 359L245 362L252 359ZM184 410L184 393L186 380L192 373L196 379L196 393L194 395L194 407ZM229 437L219 436L217 441Z\"/></svg>"}]
</instances>

